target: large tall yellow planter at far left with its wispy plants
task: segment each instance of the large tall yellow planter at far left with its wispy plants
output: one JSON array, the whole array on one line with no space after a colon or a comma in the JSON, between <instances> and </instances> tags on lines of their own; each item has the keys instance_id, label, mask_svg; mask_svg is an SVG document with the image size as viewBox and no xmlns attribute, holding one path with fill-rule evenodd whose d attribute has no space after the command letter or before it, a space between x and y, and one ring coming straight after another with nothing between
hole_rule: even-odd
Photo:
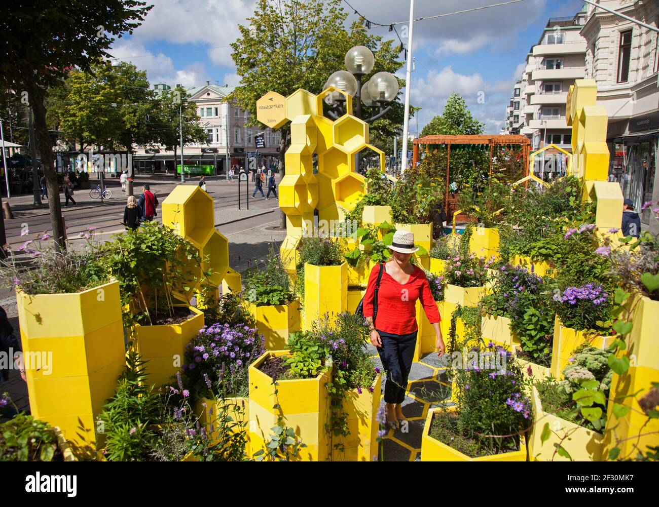
<instances>
[{"instance_id":1,"label":"large tall yellow planter at far left with its wispy plants","mask_svg":"<svg viewBox=\"0 0 659 507\"><path fill-rule=\"evenodd\" d=\"M61 252L42 248L50 236L39 234L0 269L0 282L16 290L24 355L39 361L26 367L31 413L59 427L80 457L93 452L94 417L125 361L119 282L100 261L94 229L81 234L84 248Z\"/></svg>"}]
</instances>

